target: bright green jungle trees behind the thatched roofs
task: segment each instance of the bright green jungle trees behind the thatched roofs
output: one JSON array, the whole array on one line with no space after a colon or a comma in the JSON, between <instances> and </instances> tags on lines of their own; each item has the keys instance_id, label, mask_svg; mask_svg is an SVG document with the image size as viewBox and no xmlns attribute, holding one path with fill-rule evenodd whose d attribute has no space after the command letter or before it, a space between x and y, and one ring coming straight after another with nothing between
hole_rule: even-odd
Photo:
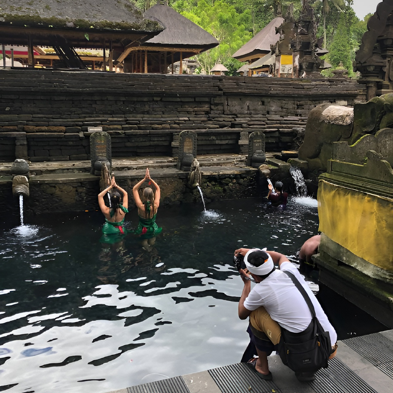
<instances>
[{"instance_id":1,"label":"bright green jungle trees behind the thatched roofs","mask_svg":"<svg viewBox=\"0 0 393 393\"><path fill-rule=\"evenodd\" d=\"M143 11L156 4L157 0L130 0ZM209 70L222 62L234 74L242 63L231 55L264 28L281 6L285 16L292 3L294 17L297 18L305 0L165 0L165 4L182 14L201 28L208 31L220 45L196 56L199 69ZM323 39L329 50L326 61L333 68L340 61L347 68L349 75L354 76L352 62L355 52L367 31L367 20L356 17L352 5L353 0L308 0L314 8L317 22L317 38Z\"/></svg>"}]
</instances>

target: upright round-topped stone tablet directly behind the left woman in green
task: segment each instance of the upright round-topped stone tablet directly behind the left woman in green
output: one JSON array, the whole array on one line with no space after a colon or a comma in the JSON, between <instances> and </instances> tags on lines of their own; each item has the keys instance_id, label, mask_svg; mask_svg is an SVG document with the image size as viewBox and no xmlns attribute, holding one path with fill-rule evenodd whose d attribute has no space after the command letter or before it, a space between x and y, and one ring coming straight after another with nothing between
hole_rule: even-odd
<instances>
[{"instance_id":1,"label":"upright round-topped stone tablet directly behind the left woman in green","mask_svg":"<svg viewBox=\"0 0 393 393\"><path fill-rule=\"evenodd\" d=\"M90 136L90 173L101 176L102 165L112 170L112 148L110 135L107 132L94 132Z\"/></svg>"}]
</instances>

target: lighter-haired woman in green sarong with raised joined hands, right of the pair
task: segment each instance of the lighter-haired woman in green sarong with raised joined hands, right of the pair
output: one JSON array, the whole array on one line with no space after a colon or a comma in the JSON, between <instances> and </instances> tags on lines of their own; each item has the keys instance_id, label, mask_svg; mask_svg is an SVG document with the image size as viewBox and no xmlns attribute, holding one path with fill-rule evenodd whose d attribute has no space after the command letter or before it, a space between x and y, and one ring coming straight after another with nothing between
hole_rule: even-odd
<instances>
[{"instance_id":1,"label":"lighter-haired woman in green sarong with raised joined hands, right of the pair","mask_svg":"<svg viewBox=\"0 0 393 393\"><path fill-rule=\"evenodd\" d=\"M149 180L149 184L152 183L154 185L156 192L154 193L150 187L146 187L143 190L144 202L142 202L138 189L145 180ZM138 228L136 228L134 233L139 235L142 239L142 247L145 248L145 250L150 251L156 241L156 235L161 233L162 228L158 228L156 224L157 209L158 206L160 206L160 187L150 177L149 168L146 168L145 177L134 185L132 193L134 195L136 207L138 208L139 216Z\"/></svg>"}]
</instances>

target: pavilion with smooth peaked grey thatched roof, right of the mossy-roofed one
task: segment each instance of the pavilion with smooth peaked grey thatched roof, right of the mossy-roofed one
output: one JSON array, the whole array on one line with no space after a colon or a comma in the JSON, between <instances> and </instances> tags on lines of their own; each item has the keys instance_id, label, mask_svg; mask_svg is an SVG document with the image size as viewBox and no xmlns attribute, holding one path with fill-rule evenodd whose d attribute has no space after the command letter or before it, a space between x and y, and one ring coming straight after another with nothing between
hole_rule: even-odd
<instances>
[{"instance_id":1,"label":"pavilion with smooth peaked grey thatched roof, right of the mossy-roofed one","mask_svg":"<svg viewBox=\"0 0 393 393\"><path fill-rule=\"evenodd\" d=\"M180 61L182 73L183 59L219 44L206 30L166 5L156 4L144 16L160 20L166 28L138 48L130 48L131 72L166 73L168 65Z\"/></svg>"}]
</instances>

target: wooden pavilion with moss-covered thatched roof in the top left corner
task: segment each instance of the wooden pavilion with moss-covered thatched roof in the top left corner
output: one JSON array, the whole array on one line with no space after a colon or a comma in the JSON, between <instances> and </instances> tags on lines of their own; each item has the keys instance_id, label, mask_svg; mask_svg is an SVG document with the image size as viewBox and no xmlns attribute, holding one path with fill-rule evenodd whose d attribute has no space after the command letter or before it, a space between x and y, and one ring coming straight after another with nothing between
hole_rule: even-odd
<instances>
[{"instance_id":1,"label":"wooden pavilion with moss-covered thatched roof in the top left corner","mask_svg":"<svg viewBox=\"0 0 393 393\"><path fill-rule=\"evenodd\" d=\"M28 64L34 67L33 46L51 46L68 68L86 66L74 48L103 49L104 69L114 60L160 33L165 27L142 15L129 0L2 0L1 44L28 46Z\"/></svg>"}]
</instances>

